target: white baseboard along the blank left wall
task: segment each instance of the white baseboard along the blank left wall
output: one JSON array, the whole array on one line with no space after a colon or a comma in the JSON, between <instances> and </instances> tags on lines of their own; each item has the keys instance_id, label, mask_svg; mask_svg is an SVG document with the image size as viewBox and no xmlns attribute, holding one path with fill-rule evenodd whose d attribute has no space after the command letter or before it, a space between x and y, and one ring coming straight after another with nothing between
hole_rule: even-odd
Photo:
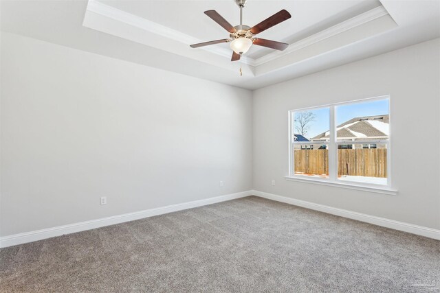
<instances>
[{"instance_id":1,"label":"white baseboard along the blank left wall","mask_svg":"<svg viewBox=\"0 0 440 293\"><path fill-rule=\"evenodd\" d=\"M114 215L112 217L100 218L97 220L79 222L63 226L56 226L53 228L46 228L37 231L19 233L9 236L0 237L0 248L34 242L41 239L61 236L70 233L100 228L123 222L130 222L133 220L140 220L143 218L153 217L154 215L162 215L164 213L172 213L173 211L181 211L184 209L192 209L194 207L201 207L217 202L224 202L226 200L234 200L236 198L244 198L250 196L251 191L238 192L236 194L226 194L224 196L216 196L214 198L206 198L203 200L195 200L192 202L184 202L181 204L172 204L166 207L158 207L155 209L147 209L144 211L136 211L134 213L124 213L122 215Z\"/></svg>"}]
</instances>

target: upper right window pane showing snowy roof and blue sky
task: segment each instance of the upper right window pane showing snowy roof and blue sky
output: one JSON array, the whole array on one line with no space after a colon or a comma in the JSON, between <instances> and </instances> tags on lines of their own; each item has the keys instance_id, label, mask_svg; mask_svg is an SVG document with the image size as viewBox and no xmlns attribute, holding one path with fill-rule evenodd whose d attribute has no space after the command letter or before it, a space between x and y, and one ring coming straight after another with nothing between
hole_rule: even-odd
<instances>
[{"instance_id":1,"label":"upper right window pane showing snowy roof and blue sky","mask_svg":"<svg viewBox=\"0 0 440 293\"><path fill-rule=\"evenodd\" d=\"M389 99L336 107L336 139L371 141L388 139ZM368 147L366 147L368 148Z\"/></svg>"}]
</instances>

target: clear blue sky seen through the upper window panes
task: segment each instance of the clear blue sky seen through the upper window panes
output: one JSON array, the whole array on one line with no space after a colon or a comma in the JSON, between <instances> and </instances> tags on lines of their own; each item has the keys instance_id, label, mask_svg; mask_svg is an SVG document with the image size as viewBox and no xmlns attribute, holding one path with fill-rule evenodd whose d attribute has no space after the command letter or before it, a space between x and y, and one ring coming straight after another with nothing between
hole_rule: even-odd
<instances>
[{"instance_id":1,"label":"clear blue sky seen through the upper window panes","mask_svg":"<svg viewBox=\"0 0 440 293\"><path fill-rule=\"evenodd\" d=\"M363 102L348 104L336 107L336 125L340 125L354 117L386 115L388 113L388 99L381 99L373 102ZM310 110L316 115L314 121L311 121L307 131L307 139L328 131L330 129L330 111L329 108ZM297 112L296 112L297 113ZM295 113L295 114L296 114ZM295 131L296 133L296 131Z\"/></svg>"}]
</instances>

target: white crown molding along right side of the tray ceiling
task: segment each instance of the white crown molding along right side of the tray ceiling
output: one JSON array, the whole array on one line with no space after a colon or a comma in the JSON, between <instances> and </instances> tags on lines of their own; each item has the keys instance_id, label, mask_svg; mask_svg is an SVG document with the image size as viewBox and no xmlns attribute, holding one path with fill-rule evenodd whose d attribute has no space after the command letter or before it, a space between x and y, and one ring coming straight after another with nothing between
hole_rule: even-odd
<instances>
[{"instance_id":1,"label":"white crown molding along right side of the tray ceiling","mask_svg":"<svg viewBox=\"0 0 440 293\"><path fill-rule=\"evenodd\" d=\"M270 54L262 56L255 60L254 66L259 66L266 62L280 58L281 56L291 54L294 51L314 45L315 43L325 40L326 38L331 38L332 36L336 36L337 34L351 30L354 27L363 25L364 23L369 23L370 21L374 21L375 19L385 15L388 15L388 11L386 11L384 6L378 6L377 8L373 8L372 10L359 14L358 16L348 19L347 21L333 25L333 27L329 27L326 30L308 36L307 38L303 38L303 40L298 40L298 42L289 45L289 47L287 47L287 49L284 51L274 51Z\"/></svg>"}]
</instances>

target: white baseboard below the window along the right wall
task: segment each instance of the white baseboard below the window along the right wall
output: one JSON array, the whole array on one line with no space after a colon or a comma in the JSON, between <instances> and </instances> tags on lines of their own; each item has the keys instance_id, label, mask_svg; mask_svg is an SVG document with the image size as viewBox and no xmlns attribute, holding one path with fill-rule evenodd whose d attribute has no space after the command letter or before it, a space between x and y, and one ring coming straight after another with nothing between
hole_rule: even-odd
<instances>
[{"instance_id":1,"label":"white baseboard below the window along the right wall","mask_svg":"<svg viewBox=\"0 0 440 293\"><path fill-rule=\"evenodd\" d=\"M366 215L365 213L357 213L355 211L347 211L346 209L337 209L323 204L306 202L304 200L296 200L294 198L287 198L286 196L278 196L276 194L268 194L267 192L262 192L257 190L252 190L251 194L254 196L259 196L261 198L267 198L269 200L285 202L287 204L293 204L298 207L305 207L307 209L313 209L315 211L331 213L332 215L340 215L341 217L344 218L358 220L369 224L375 224L377 226L392 228L395 230L404 231L404 232L440 240L440 230L433 228L427 228L423 226L417 226L414 224L408 224L405 222L399 222L395 220L389 220L386 218L375 217L374 215Z\"/></svg>"}]
</instances>

